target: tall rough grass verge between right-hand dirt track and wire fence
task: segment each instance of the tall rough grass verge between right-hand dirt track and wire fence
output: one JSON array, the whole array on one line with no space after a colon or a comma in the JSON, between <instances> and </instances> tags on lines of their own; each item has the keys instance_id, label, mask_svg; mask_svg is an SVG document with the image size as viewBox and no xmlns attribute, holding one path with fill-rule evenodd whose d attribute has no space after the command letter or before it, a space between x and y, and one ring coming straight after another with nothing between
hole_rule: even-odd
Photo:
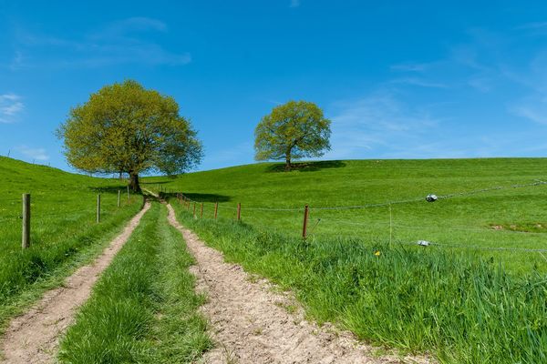
<instances>
[{"instance_id":1,"label":"tall rough grass verge between right-hand dirt track and wire fence","mask_svg":"<svg viewBox=\"0 0 547 364\"><path fill-rule=\"evenodd\" d=\"M447 363L547 362L547 279L492 260L385 239L303 241L221 219L178 217L243 267L293 289L307 313L360 339Z\"/></svg>"}]
</instances>

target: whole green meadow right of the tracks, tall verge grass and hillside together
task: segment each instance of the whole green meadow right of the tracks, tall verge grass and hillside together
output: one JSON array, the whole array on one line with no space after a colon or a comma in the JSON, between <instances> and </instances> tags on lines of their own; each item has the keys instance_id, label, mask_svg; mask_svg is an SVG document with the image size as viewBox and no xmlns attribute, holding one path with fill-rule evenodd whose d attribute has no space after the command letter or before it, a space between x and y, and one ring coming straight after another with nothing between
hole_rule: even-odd
<instances>
[{"instance_id":1,"label":"whole green meadow right of the tracks, tall verge grass and hillside together","mask_svg":"<svg viewBox=\"0 0 547 364\"><path fill-rule=\"evenodd\" d=\"M293 290L319 322L443 363L547 360L547 159L279 166L151 177L146 186L226 258ZM177 192L197 201L196 217ZM439 200L427 202L431 193Z\"/></svg>"}]
</instances>

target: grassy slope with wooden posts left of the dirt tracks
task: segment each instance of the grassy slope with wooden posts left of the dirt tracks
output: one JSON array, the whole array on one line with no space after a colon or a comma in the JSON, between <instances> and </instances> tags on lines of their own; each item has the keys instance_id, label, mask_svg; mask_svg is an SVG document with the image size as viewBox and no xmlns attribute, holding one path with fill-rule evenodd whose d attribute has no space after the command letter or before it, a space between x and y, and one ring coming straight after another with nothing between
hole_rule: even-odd
<instances>
[{"instance_id":1,"label":"grassy slope with wooden posts left of the dirt tracks","mask_svg":"<svg viewBox=\"0 0 547 364\"><path fill-rule=\"evenodd\" d=\"M0 157L0 326L47 287L98 253L140 208L141 197L125 195L107 178ZM21 199L31 194L31 247L21 248ZM96 201L101 194L101 222Z\"/></svg>"}]
</instances>

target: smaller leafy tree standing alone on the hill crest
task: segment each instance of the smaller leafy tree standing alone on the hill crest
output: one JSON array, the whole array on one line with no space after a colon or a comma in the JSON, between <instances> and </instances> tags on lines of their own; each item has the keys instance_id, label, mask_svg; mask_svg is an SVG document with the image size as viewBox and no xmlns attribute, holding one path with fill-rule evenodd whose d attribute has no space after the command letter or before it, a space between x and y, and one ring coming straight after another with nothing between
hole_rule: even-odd
<instances>
[{"instance_id":1,"label":"smaller leafy tree standing alone on the hill crest","mask_svg":"<svg viewBox=\"0 0 547 364\"><path fill-rule=\"evenodd\" d=\"M330 124L314 103L289 101L276 106L254 130L254 158L284 159L285 170L290 170L294 159L321 157L330 150Z\"/></svg>"}]
</instances>

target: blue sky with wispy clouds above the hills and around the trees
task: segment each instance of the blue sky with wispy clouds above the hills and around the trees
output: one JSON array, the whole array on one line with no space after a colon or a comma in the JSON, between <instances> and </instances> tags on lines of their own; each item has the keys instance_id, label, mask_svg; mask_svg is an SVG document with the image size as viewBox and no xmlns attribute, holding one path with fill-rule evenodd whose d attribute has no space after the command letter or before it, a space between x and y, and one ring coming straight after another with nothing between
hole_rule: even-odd
<instances>
[{"instance_id":1,"label":"blue sky with wispy clouds above the hills and around the trees","mask_svg":"<svg viewBox=\"0 0 547 364\"><path fill-rule=\"evenodd\" d=\"M253 163L272 107L314 101L325 158L547 155L542 1L0 0L0 155L68 169L54 131L126 78L174 96L200 169Z\"/></svg>"}]
</instances>

